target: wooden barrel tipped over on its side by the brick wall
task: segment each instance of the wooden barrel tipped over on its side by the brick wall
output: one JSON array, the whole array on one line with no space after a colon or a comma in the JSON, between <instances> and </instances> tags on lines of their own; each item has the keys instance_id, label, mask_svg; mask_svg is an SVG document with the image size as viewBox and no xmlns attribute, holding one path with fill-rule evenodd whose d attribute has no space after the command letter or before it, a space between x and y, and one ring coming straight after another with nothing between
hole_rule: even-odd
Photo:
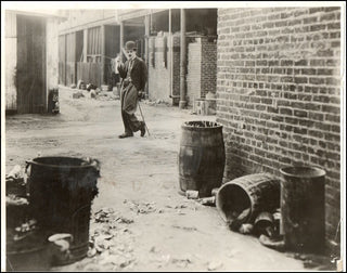
<instances>
[{"instance_id":1,"label":"wooden barrel tipped over on its side by the brick wall","mask_svg":"<svg viewBox=\"0 0 347 273\"><path fill-rule=\"evenodd\" d=\"M280 208L280 179L270 173L236 178L219 188L216 207L226 222L249 209L243 221L253 223L259 212Z\"/></svg>"}]
</instances>

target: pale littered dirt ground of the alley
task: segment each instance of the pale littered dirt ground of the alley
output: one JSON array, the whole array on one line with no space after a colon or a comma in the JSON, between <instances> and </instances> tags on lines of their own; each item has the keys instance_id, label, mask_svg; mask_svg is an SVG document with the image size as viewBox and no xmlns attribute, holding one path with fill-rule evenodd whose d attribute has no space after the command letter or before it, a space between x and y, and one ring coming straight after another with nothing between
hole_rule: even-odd
<instances>
[{"instance_id":1,"label":"pale littered dirt ground of the alley","mask_svg":"<svg viewBox=\"0 0 347 273\"><path fill-rule=\"evenodd\" d=\"M165 104L141 107L150 129L140 138L123 133L119 100L73 99L60 88L61 113L16 115L5 121L7 171L40 156L92 157L101 161L92 211L113 209L110 224L91 220L90 234L108 229L101 253L52 271L303 271L303 261L231 232L215 207L178 194L180 126L215 120ZM140 115L139 115L140 116ZM112 211L111 211L112 212Z\"/></svg>"}]
</instances>

